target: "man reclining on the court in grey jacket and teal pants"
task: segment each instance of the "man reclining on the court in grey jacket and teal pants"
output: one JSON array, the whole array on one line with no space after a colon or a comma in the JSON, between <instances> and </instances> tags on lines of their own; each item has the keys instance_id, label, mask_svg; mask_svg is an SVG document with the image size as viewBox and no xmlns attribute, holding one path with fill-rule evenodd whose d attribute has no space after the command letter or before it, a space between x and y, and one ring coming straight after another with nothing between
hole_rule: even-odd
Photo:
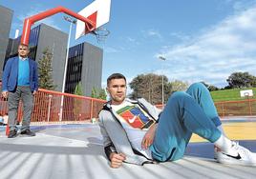
<instances>
[{"instance_id":1,"label":"man reclining on the court in grey jacket and teal pants","mask_svg":"<svg viewBox=\"0 0 256 179\"><path fill-rule=\"evenodd\" d=\"M220 163L256 166L256 155L224 135L208 89L195 83L171 95L159 109L144 99L126 98L126 79L114 73L107 79L111 100L99 112L99 127L112 168L123 162L143 165L181 159L192 133L215 145Z\"/></svg>"}]
</instances>

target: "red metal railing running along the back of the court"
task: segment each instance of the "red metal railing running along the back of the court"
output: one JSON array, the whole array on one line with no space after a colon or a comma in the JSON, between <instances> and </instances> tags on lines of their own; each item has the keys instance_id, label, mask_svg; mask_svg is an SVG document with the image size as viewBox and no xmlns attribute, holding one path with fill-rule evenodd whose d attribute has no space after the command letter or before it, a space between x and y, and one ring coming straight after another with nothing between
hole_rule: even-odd
<instances>
[{"instance_id":1,"label":"red metal railing running along the back of the court","mask_svg":"<svg viewBox=\"0 0 256 179\"><path fill-rule=\"evenodd\" d=\"M1 84L0 84L1 85ZM62 119L60 121L61 97L64 98ZM105 100L75 94L61 93L53 90L39 89L34 96L32 122L83 122L98 117ZM220 116L256 115L256 99L241 101L216 102ZM161 105L157 105L162 108ZM0 98L0 113L8 112L7 100ZM22 120L22 105L18 109L18 121Z\"/></svg>"}]
</instances>

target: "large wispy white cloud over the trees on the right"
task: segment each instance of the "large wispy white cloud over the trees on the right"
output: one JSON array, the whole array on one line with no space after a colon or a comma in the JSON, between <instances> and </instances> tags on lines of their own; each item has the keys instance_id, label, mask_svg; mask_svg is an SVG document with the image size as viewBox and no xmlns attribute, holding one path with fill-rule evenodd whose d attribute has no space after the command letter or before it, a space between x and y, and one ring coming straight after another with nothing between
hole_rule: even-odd
<instances>
[{"instance_id":1,"label":"large wispy white cloud over the trees on the right","mask_svg":"<svg viewBox=\"0 0 256 179\"><path fill-rule=\"evenodd\" d=\"M188 82L225 86L235 71L256 75L256 7L237 12L199 36L175 47L163 47L165 74Z\"/></svg>"}]
</instances>

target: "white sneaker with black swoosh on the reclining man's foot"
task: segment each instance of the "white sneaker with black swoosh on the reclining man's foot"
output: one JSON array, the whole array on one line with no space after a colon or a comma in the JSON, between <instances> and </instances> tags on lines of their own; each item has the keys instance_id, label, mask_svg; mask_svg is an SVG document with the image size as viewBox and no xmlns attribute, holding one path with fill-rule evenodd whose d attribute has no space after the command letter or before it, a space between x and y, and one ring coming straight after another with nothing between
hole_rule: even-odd
<instances>
[{"instance_id":1,"label":"white sneaker with black swoosh on the reclining man's foot","mask_svg":"<svg viewBox=\"0 0 256 179\"><path fill-rule=\"evenodd\" d=\"M217 161L223 164L256 166L256 153L239 146L238 143L232 142L232 155L223 151L217 151ZM236 152L236 154L234 154Z\"/></svg>"}]
</instances>

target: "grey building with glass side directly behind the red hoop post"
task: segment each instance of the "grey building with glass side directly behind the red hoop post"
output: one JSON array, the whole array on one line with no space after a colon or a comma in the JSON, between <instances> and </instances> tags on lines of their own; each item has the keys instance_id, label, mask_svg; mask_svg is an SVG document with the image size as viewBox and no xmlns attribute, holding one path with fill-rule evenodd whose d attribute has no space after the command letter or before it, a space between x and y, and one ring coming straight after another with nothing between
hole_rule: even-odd
<instances>
[{"instance_id":1,"label":"grey building with glass side directly behind the red hoop post","mask_svg":"<svg viewBox=\"0 0 256 179\"><path fill-rule=\"evenodd\" d=\"M16 56L21 36L10 39L6 60ZM61 91L66 57L68 34L52 27L40 24L31 30L30 35L30 58L38 62L43 57L43 51L48 48L53 53L53 82L56 89Z\"/></svg>"}]
</instances>

